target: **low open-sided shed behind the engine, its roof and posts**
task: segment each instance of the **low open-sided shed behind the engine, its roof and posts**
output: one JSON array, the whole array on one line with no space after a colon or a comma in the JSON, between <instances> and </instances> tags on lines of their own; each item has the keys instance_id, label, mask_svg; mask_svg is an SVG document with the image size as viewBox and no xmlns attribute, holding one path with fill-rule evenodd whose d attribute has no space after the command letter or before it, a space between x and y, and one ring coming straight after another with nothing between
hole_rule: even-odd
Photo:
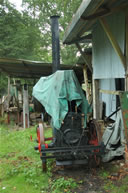
<instances>
[{"instance_id":1,"label":"low open-sided shed behind the engine, its roof and posts","mask_svg":"<svg viewBox=\"0 0 128 193\"><path fill-rule=\"evenodd\" d=\"M83 80L83 71L80 66L61 65L61 70L74 69L80 82ZM52 63L44 63L42 61L30 61L23 59L0 58L0 71L8 75L8 112L10 102L10 78L23 79L39 79L42 76L52 74ZM32 84L31 84L32 85ZM16 85L15 85L16 86ZM22 89L21 89L22 90ZM23 125L29 127L29 102L28 102L28 86L23 86ZM8 113L9 114L9 113ZM20 109L18 109L18 117ZM19 118L17 118L19 120ZM8 121L9 122L9 121ZM19 121L18 121L19 122Z\"/></svg>"}]
</instances>

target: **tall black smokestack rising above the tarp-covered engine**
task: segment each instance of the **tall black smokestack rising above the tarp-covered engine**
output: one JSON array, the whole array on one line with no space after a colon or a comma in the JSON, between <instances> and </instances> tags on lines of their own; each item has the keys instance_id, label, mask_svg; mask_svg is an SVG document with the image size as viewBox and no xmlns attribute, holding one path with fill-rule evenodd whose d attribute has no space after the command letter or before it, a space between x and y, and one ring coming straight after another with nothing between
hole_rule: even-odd
<instances>
[{"instance_id":1,"label":"tall black smokestack rising above the tarp-covered engine","mask_svg":"<svg viewBox=\"0 0 128 193\"><path fill-rule=\"evenodd\" d=\"M52 72L60 70L59 16L51 16L52 30Z\"/></svg>"}]
</instances>

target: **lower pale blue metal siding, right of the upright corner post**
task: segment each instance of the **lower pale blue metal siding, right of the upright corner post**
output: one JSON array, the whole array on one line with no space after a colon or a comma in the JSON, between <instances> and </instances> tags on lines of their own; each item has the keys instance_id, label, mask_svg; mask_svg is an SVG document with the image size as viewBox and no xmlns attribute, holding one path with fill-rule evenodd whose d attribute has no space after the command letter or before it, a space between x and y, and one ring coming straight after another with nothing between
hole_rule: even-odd
<instances>
[{"instance_id":1,"label":"lower pale blue metal siding, right of the upright corner post","mask_svg":"<svg viewBox=\"0 0 128 193\"><path fill-rule=\"evenodd\" d=\"M115 90L115 79L100 79L100 89ZM106 104L106 116L116 110L116 95L100 93L100 100ZM115 116L112 117L115 119Z\"/></svg>"}]
</instances>

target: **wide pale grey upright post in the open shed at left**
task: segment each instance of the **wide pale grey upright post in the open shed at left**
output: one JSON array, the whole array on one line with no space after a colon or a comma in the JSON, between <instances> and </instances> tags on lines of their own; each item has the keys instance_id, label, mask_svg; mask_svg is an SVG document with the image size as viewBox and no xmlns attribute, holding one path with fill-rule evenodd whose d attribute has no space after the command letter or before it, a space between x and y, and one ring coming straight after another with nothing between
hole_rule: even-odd
<instances>
[{"instance_id":1,"label":"wide pale grey upright post in the open shed at left","mask_svg":"<svg viewBox=\"0 0 128 193\"><path fill-rule=\"evenodd\" d=\"M29 128L29 100L28 100L28 85L23 86L23 127Z\"/></svg>"}]
</instances>

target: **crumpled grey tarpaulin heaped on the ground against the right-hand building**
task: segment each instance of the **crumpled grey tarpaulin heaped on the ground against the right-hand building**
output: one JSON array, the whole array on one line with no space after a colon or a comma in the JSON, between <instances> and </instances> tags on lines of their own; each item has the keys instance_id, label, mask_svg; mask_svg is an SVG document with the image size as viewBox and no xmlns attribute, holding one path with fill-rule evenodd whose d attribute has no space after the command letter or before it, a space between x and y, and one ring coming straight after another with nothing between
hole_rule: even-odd
<instances>
[{"instance_id":1,"label":"crumpled grey tarpaulin heaped on the ground against the right-hand building","mask_svg":"<svg viewBox=\"0 0 128 193\"><path fill-rule=\"evenodd\" d=\"M121 110L117 113L115 123L106 128L102 140L106 146L106 153L102 158L103 162L108 162L114 157L124 154L125 138Z\"/></svg>"}]
</instances>

